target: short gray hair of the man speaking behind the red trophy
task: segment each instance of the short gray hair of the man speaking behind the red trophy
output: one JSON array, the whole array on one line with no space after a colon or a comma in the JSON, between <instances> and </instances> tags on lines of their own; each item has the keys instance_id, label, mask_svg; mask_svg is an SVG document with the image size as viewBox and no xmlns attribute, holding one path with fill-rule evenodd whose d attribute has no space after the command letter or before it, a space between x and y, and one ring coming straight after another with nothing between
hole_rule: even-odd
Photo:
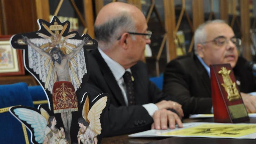
<instances>
[{"instance_id":1,"label":"short gray hair of the man speaking behind the red trophy","mask_svg":"<svg viewBox=\"0 0 256 144\"><path fill-rule=\"evenodd\" d=\"M207 24L216 24L216 23L227 24L224 20L214 19L214 20L209 20L209 21L206 21L206 22L200 24L198 26L198 28L195 30L195 34L194 34L194 50L195 50L195 54L197 54L196 45L206 41L207 33L205 31L205 26Z\"/></svg>"}]
</instances>

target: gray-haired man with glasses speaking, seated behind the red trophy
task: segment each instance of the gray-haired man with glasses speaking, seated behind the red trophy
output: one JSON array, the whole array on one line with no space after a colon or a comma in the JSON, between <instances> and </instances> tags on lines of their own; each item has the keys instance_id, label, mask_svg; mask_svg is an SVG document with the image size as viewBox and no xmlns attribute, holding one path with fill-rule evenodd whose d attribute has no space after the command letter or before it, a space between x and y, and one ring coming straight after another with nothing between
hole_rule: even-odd
<instances>
[{"instance_id":1,"label":"gray-haired man with glasses speaking, seated behind the red trophy","mask_svg":"<svg viewBox=\"0 0 256 144\"><path fill-rule=\"evenodd\" d=\"M168 63L163 92L178 100L185 117L213 112L209 65L223 63L230 63L233 68L247 111L256 112L256 97L246 94L256 90L255 78L244 66L246 60L238 56L240 45L241 40L223 20L207 21L195 31L194 53Z\"/></svg>"}]
</instances>

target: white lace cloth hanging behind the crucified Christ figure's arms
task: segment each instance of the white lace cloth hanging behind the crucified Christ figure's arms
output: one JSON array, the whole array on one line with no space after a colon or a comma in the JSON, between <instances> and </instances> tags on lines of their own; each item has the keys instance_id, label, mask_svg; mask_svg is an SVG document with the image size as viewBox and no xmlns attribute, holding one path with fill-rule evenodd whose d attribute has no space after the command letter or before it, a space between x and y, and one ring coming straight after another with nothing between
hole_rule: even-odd
<instances>
[{"instance_id":1,"label":"white lace cloth hanging behind the crucified Christ figure's arms","mask_svg":"<svg viewBox=\"0 0 256 144\"><path fill-rule=\"evenodd\" d=\"M51 39L33 38L30 41L46 52L50 51ZM82 40L66 39L63 46L65 53L72 52ZM63 47L61 49L64 49ZM31 46L28 45L29 68L39 75L39 79L45 83L45 89L52 93L53 84L56 82L56 74L53 62L44 56L41 56ZM79 53L69 61L69 76L74 89L80 88L83 76L87 74L84 51L81 49Z\"/></svg>"}]
</instances>

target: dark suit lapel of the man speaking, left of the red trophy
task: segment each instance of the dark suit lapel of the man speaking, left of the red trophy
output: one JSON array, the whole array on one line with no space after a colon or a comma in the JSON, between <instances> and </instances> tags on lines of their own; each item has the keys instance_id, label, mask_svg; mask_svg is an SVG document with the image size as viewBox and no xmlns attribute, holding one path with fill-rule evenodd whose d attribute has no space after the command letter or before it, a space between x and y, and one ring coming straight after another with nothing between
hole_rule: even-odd
<instances>
[{"instance_id":1,"label":"dark suit lapel of the man speaking, left of the red trophy","mask_svg":"<svg viewBox=\"0 0 256 144\"><path fill-rule=\"evenodd\" d=\"M198 60L197 56L193 54L193 59L195 61L195 65L198 69L198 74L200 76L200 81L202 81L205 89L207 90L208 94L211 96L211 81L205 67L201 64Z\"/></svg>"}]
</instances>

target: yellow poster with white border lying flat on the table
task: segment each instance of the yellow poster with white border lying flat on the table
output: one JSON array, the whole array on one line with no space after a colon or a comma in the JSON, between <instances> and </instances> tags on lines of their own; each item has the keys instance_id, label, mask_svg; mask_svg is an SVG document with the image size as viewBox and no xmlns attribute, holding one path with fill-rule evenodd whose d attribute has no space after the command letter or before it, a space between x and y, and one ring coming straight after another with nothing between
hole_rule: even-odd
<instances>
[{"instance_id":1,"label":"yellow poster with white border lying flat on the table","mask_svg":"<svg viewBox=\"0 0 256 144\"><path fill-rule=\"evenodd\" d=\"M176 136L204 138L256 139L256 124L230 124L214 122L187 122L183 128L139 132L130 137Z\"/></svg>"}]
</instances>

